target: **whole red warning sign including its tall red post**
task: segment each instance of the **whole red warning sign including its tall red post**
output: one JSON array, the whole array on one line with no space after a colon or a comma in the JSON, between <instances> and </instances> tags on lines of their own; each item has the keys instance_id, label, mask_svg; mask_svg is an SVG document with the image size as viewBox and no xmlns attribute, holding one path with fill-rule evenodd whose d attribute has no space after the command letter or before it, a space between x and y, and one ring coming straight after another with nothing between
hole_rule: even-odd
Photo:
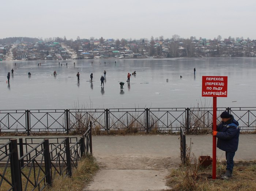
<instances>
[{"instance_id":1,"label":"whole red warning sign including its tall red post","mask_svg":"<svg viewBox=\"0 0 256 191\"><path fill-rule=\"evenodd\" d=\"M202 96L213 97L212 125L217 130L217 97L227 97L227 76L202 76ZM216 179L216 136L212 136L212 179Z\"/></svg>"}]
</instances>

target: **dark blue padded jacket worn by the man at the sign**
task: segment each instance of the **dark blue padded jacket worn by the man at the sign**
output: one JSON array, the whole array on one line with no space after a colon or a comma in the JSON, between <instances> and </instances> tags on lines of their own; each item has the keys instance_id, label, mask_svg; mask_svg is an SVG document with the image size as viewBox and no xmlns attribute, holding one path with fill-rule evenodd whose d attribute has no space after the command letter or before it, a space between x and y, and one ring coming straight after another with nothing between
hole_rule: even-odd
<instances>
[{"instance_id":1,"label":"dark blue padded jacket worn by the man at the sign","mask_svg":"<svg viewBox=\"0 0 256 191\"><path fill-rule=\"evenodd\" d=\"M217 147L223 151L236 152L238 148L238 140L240 129L238 122L232 118L227 122L222 122L217 126Z\"/></svg>"}]
</instances>

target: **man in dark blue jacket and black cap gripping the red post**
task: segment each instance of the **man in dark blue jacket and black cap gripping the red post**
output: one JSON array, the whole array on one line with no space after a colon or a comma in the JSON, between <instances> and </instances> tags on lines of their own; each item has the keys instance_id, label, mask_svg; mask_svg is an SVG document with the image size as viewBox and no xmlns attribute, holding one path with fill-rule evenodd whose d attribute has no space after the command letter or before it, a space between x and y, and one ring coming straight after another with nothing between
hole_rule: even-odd
<instances>
[{"instance_id":1,"label":"man in dark blue jacket and black cap gripping the red post","mask_svg":"<svg viewBox=\"0 0 256 191\"><path fill-rule=\"evenodd\" d=\"M234 156L238 148L240 129L234 116L227 111L221 114L221 123L217 126L217 131L212 131L212 135L218 138L217 147L226 152L226 173L221 176L223 180L229 180L234 167Z\"/></svg>"}]
</instances>

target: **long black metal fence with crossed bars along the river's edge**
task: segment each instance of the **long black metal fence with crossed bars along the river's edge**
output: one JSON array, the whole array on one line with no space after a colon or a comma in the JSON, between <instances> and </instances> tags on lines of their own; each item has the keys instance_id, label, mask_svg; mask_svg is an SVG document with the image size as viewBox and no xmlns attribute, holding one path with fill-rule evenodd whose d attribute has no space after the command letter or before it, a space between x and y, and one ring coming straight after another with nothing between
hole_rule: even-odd
<instances>
[{"instance_id":1,"label":"long black metal fence with crossed bars along the river's edge","mask_svg":"<svg viewBox=\"0 0 256 191\"><path fill-rule=\"evenodd\" d=\"M256 130L256 107L219 107L234 115L242 131ZM111 108L63 110L0 110L1 132L83 132L93 129L118 131L207 131L212 126L212 108ZM220 118L217 119L220 122Z\"/></svg>"}]
</instances>

